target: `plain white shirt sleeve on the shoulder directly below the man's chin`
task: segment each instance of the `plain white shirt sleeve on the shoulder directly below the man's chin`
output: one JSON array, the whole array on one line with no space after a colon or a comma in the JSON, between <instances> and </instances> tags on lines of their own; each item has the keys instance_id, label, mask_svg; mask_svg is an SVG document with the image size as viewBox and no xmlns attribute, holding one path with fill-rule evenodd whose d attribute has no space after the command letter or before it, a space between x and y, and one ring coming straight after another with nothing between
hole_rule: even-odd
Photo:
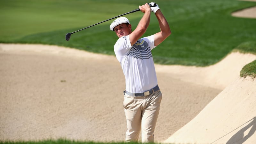
<instances>
[{"instance_id":1,"label":"plain white shirt sleeve on the shoulder directly below the man's chin","mask_svg":"<svg viewBox=\"0 0 256 144\"><path fill-rule=\"evenodd\" d=\"M114 45L114 51L116 54L116 57L119 59L120 57L123 57L126 55L130 49L132 48L129 35L120 37L116 44Z\"/></svg>"}]
</instances>

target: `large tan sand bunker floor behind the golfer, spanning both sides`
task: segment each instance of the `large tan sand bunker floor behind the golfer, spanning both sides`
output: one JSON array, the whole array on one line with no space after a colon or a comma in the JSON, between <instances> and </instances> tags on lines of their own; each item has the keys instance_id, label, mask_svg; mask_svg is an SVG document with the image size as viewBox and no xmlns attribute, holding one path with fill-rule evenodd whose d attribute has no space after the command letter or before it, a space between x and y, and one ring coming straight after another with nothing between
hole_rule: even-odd
<instances>
[{"instance_id":1,"label":"large tan sand bunker floor behind the golfer, spanning both sides","mask_svg":"<svg viewBox=\"0 0 256 144\"><path fill-rule=\"evenodd\" d=\"M192 120L255 59L236 52L205 68L156 65L163 93L156 142ZM238 68L231 68L231 61ZM124 140L124 76L114 56L59 46L0 44L0 65L0 140ZM221 69L212 72L219 67L232 69L234 76ZM213 81L216 75L227 81ZM205 79L213 84L208 86Z\"/></svg>"}]
</instances>

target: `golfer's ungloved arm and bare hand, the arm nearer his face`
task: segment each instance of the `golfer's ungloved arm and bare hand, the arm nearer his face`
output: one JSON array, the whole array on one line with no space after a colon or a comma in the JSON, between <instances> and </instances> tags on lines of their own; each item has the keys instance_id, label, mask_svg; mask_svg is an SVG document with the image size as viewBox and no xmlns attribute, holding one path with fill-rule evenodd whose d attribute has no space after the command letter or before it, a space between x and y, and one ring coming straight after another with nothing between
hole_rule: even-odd
<instances>
[{"instance_id":1,"label":"golfer's ungloved arm and bare hand, the arm nearer his face","mask_svg":"<svg viewBox=\"0 0 256 144\"><path fill-rule=\"evenodd\" d=\"M141 18L136 29L129 35L131 45L135 44L137 40L146 32L150 21L151 9L149 5L146 3L142 6L139 6L139 8L140 11L144 13L144 15Z\"/></svg>"}]
</instances>

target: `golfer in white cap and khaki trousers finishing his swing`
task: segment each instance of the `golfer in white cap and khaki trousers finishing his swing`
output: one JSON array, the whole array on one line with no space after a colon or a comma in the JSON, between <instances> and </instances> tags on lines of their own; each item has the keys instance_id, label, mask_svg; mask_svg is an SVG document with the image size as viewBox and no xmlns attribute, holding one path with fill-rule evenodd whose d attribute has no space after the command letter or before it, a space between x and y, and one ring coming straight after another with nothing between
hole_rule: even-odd
<instances>
[{"instance_id":1,"label":"golfer in white cap and khaki trousers finishing his swing","mask_svg":"<svg viewBox=\"0 0 256 144\"><path fill-rule=\"evenodd\" d=\"M129 20L120 17L111 23L110 30L119 37L114 51L125 76L123 106L128 129L125 140L138 141L141 132L142 142L154 142L162 93L157 85L151 50L161 44L171 34L171 30L157 4L149 7L146 3L139 8L144 15L137 28L132 31ZM148 28L151 12L156 15L160 32L140 38Z\"/></svg>"}]
</instances>

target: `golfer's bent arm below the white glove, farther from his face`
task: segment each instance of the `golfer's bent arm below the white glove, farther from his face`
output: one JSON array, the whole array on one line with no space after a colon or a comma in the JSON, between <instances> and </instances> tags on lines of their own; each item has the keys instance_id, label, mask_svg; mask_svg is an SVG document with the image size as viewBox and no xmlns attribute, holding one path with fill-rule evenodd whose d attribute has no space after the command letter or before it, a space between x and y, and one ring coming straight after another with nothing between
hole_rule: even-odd
<instances>
[{"instance_id":1,"label":"golfer's bent arm below the white glove, farther from his face","mask_svg":"<svg viewBox=\"0 0 256 144\"><path fill-rule=\"evenodd\" d=\"M155 46L157 46L161 44L168 36L171 35L171 29L160 9L158 9L155 14L161 30L154 35Z\"/></svg>"}]
</instances>

